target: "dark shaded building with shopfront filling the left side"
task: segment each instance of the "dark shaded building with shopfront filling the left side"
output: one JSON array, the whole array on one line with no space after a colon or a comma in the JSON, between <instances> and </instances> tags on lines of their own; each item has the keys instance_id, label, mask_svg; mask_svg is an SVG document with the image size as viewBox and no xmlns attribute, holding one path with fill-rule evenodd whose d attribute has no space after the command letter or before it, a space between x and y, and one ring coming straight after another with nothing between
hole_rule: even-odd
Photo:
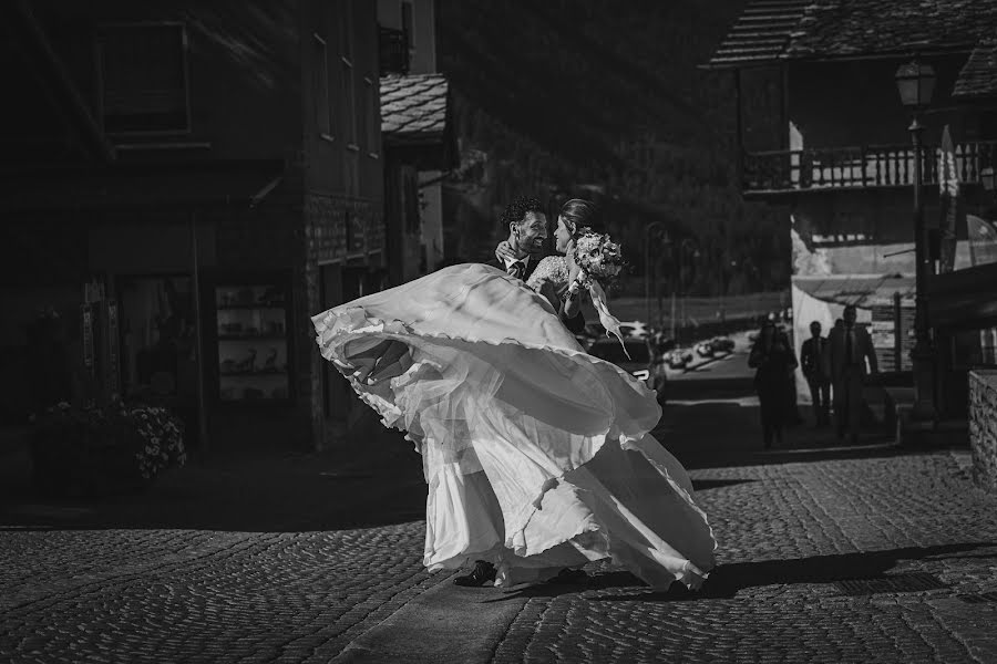
<instances>
[{"instance_id":1,"label":"dark shaded building with shopfront filling the left side","mask_svg":"<svg viewBox=\"0 0 997 664\"><path fill-rule=\"evenodd\" d=\"M341 438L309 319L387 281L376 8L3 11L4 418L119 394L174 408L195 445Z\"/></svg>"}]
</instances>

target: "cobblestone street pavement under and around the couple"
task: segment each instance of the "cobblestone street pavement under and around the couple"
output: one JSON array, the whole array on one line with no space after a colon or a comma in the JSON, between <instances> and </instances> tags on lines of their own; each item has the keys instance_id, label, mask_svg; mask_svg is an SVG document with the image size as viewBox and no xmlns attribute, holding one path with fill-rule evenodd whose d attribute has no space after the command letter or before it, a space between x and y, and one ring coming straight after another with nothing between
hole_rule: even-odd
<instances>
[{"instance_id":1,"label":"cobblestone street pavement under and around the couple","mask_svg":"<svg viewBox=\"0 0 997 664\"><path fill-rule=\"evenodd\" d=\"M803 427L765 452L756 421L749 397L656 432L720 542L696 594L606 563L511 592L428 574L408 452L205 461L96 505L7 491L0 661L997 662L997 497L966 453Z\"/></svg>"}]
</instances>

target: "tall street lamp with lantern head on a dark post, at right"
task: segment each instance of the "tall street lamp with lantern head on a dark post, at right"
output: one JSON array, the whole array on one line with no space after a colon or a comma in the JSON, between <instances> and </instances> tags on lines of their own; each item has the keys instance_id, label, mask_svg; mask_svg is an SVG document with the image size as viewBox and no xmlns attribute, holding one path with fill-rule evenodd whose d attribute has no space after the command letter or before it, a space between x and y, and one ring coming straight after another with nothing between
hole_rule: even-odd
<instances>
[{"instance_id":1,"label":"tall street lamp with lantern head on a dark post, at right","mask_svg":"<svg viewBox=\"0 0 997 664\"><path fill-rule=\"evenodd\" d=\"M914 419L935 419L934 398L934 353L928 326L927 284L932 276L932 260L927 251L927 234L924 226L924 204L922 203L922 134L921 111L932 102L935 90L935 70L922 64L916 58L896 70L896 89L901 103L911 111L913 120L908 127L914 147L914 257L915 314L914 350L911 353L914 369L914 394L916 403L911 413Z\"/></svg>"}]
</instances>

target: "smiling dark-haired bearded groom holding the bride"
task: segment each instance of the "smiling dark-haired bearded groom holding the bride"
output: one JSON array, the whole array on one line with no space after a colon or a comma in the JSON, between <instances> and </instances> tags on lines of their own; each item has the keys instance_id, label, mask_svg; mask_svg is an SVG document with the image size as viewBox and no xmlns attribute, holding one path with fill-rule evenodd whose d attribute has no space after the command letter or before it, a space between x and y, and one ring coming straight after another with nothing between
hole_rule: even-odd
<instances>
[{"instance_id":1,"label":"smiling dark-haired bearded groom holding the bride","mask_svg":"<svg viewBox=\"0 0 997 664\"><path fill-rule=\"evenodd\" d=\"M502 229L508 230L508 238L495 248L495 259L487 264L526 281L546 255L547 215L544 206L536 198L520 196L502 212L501 222ZM569 317L562 308L558 317L572 334L585 331L585 317L580 311Z\"/></svg>"}]
</instances>

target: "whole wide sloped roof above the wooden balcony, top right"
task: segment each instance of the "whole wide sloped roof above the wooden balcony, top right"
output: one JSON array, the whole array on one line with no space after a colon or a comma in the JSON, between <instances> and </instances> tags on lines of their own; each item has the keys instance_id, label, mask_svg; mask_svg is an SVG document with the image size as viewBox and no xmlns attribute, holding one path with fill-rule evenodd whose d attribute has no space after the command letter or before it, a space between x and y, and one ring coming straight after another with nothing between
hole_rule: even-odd
<instances>
[{"instance_id":1,"label":"whole wide sloped roof above the wooden balcony, top right","mask_svg":"<svg viewBox=\"0 0 997 664\"><path fill-rule=\"evenodd\" d=\"M709 66L968 52L995 31L991 0L756 0Z\"/></svg>"}]
</instances>

